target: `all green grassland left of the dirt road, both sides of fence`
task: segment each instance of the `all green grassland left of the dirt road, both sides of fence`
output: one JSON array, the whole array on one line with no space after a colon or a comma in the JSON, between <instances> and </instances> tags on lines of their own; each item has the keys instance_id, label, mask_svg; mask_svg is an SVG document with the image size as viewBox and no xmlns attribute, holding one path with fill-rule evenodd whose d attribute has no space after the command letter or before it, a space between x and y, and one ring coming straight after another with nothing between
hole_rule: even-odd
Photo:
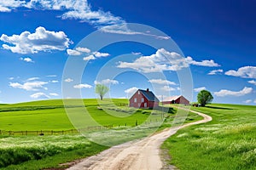
<instances>
[{"instance_id":1,"label":"all green grassland left of the dirt road, both sides of fence","mask_svg":"<svg viewBox=\"0 0 256 170\"><path fill-rule=\"evenodd\" d=\"M161 111L135 110L127 107L126 99L84 99L78 105L76 99L68 102L67 109L77 114L85 107L90 116L102 126L113 125L111 129L100 129L80 134L67 135L0 135L1 169L44 169L66 167L60 165L82 157L95 155L108 149L106 145L121 144L140 139L165 127L171 127L176 110L165 113L165 122L160 126ZM150 119L148 117L150 116ZM148 119L148 120L147 120ZM189 113L187 122L201 119ZM147 122L145 122L147 120ZM90 127L90 123L84 126ZM143 125L140 126L141 123ZM136 126L137 125L137 126ZM160 127L159 127L160 126ZM73 129L62 100L44 100L14 105L0 105L0 130L34 131ZM89 139L93 139L90 141ZM102 145L103 144L103 145Z\"/></svg>"}]
</instances>

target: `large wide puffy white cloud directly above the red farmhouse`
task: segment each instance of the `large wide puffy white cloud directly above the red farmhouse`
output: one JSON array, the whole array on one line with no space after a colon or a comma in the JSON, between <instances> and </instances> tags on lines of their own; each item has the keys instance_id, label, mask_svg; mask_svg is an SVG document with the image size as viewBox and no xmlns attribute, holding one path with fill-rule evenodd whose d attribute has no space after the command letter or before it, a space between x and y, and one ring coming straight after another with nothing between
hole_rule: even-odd
<instances>
[{"instance_id":1,"label":"large wide puffy white cloud directly above the red farmhouse","mask_svg":"<svg viewBox=\"0 0 256 170\"><path fill-rule=\"evenodd\" d=\"M160 48L155 54L142 56L133 62L119 61L118 68L131 68L144 73L160 71L179 71L189 65L218 66L212 59L201 62L193 60L191 57L183 58L180 54L166 51Z\"/></svg>"}]
</instances>

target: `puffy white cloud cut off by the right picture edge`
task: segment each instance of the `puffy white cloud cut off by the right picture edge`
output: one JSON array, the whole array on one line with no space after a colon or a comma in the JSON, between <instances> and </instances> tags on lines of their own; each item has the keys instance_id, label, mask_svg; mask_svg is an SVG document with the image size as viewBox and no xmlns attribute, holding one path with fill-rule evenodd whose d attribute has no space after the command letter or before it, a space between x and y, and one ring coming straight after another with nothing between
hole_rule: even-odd
<instances>
[{"instance_id":1,"label":"puffy white cloud cut off by the right picture edge","mask_svg":"<svg viewBox=\"0 0 256 170\"><path fill-rule=\"evenodd\" d=\"M226 71L225 75L242 78L256 78L256 66L244 66L237 71Z\"/></svg>"}]
</instances>

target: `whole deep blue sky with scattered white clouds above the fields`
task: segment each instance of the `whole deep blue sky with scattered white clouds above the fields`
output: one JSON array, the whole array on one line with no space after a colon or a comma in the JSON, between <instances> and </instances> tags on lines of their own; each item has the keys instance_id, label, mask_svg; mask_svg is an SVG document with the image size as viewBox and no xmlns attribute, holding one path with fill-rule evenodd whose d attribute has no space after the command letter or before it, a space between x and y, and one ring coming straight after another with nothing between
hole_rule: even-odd
<instances>
[{"instance_id":1,"label":"whole deep blue sky with scattered white clouds above the fields","mask_svg":"<svg viewBox=\"0 0 256 170\"><path fill-rule=\"evenodd\" d=\"M96 98L95 84L104 83L111 89L108 97L127 98L137 88L150 88L167 99L183 91L177 72L190 69L194 101L207 89L215 103L256 105L255 7L253 0L0 1L0 101L61 99L61 83L83 98ZM127 23L152 26L168 36L142 33ZM93 43L102 40L82 46L84 37L99 30L163 44L172 39L182 52L138 42L99 50ZM62 78L68 59L86 65L81 79ZM119 74L110 77L111 68Z\"/></svg>"}]
</instances>

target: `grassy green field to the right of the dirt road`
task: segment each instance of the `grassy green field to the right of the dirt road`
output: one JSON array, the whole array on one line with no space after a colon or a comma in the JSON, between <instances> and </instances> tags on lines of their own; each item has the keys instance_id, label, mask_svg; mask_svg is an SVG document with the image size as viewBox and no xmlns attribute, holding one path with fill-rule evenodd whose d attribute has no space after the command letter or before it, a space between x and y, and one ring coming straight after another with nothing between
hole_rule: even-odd
<instances>
[{"instance_id":1,"label":"grassy green field to the right of the dirt road","mask_svg":"<svg viewBox=\"0 0 256 170\"><path fill-rule=\"evenodd\" d=\"M212 122L186 127L162 145L170 163L185 169L256 169L256 106L218 105L192 108Z\"/></svg>"}]
</instances>

